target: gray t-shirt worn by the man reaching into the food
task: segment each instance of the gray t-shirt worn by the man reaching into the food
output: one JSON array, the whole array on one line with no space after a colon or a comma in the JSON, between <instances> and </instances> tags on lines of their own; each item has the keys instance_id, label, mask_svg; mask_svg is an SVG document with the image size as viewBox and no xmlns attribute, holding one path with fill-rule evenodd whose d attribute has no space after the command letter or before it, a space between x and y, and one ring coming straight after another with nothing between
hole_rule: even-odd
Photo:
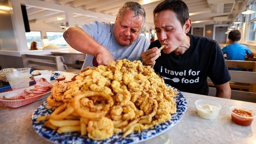
<instances>
[{"instance_id":1,"label":"gray t-shirt worn by the man reaching into the food","mask_svg":"<svg viewBox=\"0 0 256 144\"><path fill-rule=\"evenodd\" d=\"M114 24L95 21L90 24L78 26L78 28L84 30L87 34L92 36L92 38L94 38L94 40L96 40L99 44L107 48L115 60L121 60L126 58L130 61L142 61L140 54L148 50L150 44L146 37L139 36L138 40L134 42L134 44L130 46L121 46L116 42L114 38ZM82 69L88 66L93 66L93 57L94 56L89 54L86 55Z\"/></svg>"}]
</instances>

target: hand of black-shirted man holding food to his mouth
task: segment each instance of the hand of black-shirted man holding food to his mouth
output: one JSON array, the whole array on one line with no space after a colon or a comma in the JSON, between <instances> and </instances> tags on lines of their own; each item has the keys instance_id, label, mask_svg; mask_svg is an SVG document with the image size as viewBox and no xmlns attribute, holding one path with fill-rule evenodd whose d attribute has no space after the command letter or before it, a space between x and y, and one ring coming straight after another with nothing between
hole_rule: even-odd
<instances>
[{"instance_id":1,"label":"hand of black-shirted man holding food to his mouth","mask_svg":"<svg viewBox=\"0 0 256 144\"><path fill-rule=\"evenodd\" d=\"M157 47L154 47L146 52L142 52L141 57L145 66L154 67L156 64L156 59L159 57L161 50L158 50Z\"/></svg>"}]
</instances>

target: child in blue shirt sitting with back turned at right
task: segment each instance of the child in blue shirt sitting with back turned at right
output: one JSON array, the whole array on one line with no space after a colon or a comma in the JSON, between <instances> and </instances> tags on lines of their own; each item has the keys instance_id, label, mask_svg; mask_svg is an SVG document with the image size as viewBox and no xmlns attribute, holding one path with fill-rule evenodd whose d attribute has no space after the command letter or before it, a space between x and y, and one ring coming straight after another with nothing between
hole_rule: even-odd
<instances>
[{"instance_id":1,"label":"child in blue shirt sitting with back turned at right","mask_svg":"<svg viewBox=\"0 0 256 144\"><path fill-rule=\"evenodd\" d=\"M222 48L222 53L227 55L227 60L245 60L247 58L253 58L251 50L243 44L239 44L241 39L240 30L231 30L228 34L228 43L230 45ZM228 70L245 70L244 68L228 68Z\"/></svg>"}]
</instances>

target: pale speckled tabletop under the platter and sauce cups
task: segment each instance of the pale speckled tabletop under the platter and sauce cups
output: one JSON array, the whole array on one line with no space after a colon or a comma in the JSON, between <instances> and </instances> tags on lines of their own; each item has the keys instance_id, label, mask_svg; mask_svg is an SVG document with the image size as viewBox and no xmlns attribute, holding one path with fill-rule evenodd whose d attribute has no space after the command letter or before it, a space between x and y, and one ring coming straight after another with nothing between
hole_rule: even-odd
<instances>
[{"instance_id":1,"label":"pale speckled tabletop under the platter and sauce cups","mask_svg":"<svg viewBox=\"0 0 256 144\"><path fill-rule=\"evenodd\" d=\"M62 73L65 74L65 73ZM69 75L69 77L73 77ZM68 78L69 78L68 77ZM67 77L66 77L67 78ZM172 144L255 144L256 120L251 126L239 126L232 122L229 108L245 106L256 110L256 103L228 100L211 96L202 96L182 92L188 103L188 109L174 127L164 133ZM205 120L196 113L194 102L199 99L214 100L222 105L215 120ZM46 98L10 110L0 111L0 143L1 144L48 144L33 129L31 116ZM161 135L160 135L161 136ZM148 141L149 142L149 141ZM143 143L148 143L147 141Z\"/></svg>"}]
</instances>

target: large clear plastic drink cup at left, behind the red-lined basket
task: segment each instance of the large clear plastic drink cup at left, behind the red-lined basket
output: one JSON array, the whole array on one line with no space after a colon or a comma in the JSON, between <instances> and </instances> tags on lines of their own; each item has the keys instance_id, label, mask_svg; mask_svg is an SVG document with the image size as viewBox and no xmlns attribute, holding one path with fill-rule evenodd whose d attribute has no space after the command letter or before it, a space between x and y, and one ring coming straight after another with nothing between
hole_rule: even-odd
<instances>
[{"instance_id":1,"label":"large clear plastic drink cup at left, behind the red-lined basket","mask_svg":"<svg viewBox=\"0 0 256 144\"><path fill-rule=\"evenodd\" d=\"M30 69L31 68L16 68L14 70L4 71L12 90L29 86Z\"/></svg>"}]
</instances>

